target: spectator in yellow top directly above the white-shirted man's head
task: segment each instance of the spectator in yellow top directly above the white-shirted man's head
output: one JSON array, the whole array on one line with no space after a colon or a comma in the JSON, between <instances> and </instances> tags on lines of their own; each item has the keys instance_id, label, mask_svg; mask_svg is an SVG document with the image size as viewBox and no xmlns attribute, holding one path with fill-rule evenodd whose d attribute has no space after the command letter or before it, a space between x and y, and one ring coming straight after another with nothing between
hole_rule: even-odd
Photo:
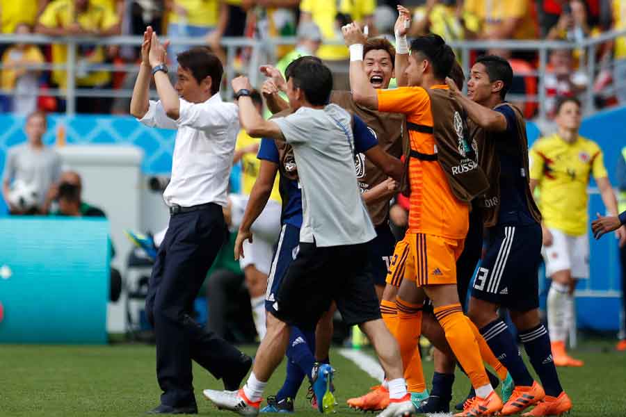
<instances>
[{"instance_id":1,"label":"spectator in yellow top directly above the white-shirted man's head","mask_svg":"<svg viewBox=\"0 0 626 417\"><path fill-rule=\"evenodd\" d=\"M169 10L168 38L206 37L211 50L220 51L220 40L228 26L228 5L223 0L166 0ZM171 45L170 59L188 49L188 45Z\"/></svg>"}]
</instances>

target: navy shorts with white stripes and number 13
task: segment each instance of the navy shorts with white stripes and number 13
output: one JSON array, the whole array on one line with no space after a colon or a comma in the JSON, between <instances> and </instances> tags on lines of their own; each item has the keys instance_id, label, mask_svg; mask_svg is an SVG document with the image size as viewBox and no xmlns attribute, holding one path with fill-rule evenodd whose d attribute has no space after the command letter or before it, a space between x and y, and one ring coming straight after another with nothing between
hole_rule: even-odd
<instances>
[{"instance_id":1,"label":"navy shorts with white stripes and number 13","mask_svg":"<svg viewBox=\"0 0 626 417\"><path fill-rule=\"evenodd\" d=\"M538 308L540 262L538 223L488 229L487 254L476 274L472 297L513 311Z\"/></svg>"}]
</instances>

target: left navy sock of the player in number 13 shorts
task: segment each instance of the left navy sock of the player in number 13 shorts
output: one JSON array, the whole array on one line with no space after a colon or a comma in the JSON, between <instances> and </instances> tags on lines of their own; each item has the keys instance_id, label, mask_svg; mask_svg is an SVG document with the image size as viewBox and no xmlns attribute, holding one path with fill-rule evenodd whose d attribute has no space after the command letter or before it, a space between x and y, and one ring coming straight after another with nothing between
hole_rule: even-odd
<instances>
[{"instance_id":1,"label":"left navy sock of the player in number 13 shorts","mask_svg":"<svg viewBox=\"0 0 626 417\"><path fill-rule=\"evenodd\" d=\"M494 320L481 329L481 334L493 354L506 366L515 385L531 386L533 377L524 365L520 350L517 348L513 334L508 331L506 323L500 319Z\"/></svg>"}]
</instances>

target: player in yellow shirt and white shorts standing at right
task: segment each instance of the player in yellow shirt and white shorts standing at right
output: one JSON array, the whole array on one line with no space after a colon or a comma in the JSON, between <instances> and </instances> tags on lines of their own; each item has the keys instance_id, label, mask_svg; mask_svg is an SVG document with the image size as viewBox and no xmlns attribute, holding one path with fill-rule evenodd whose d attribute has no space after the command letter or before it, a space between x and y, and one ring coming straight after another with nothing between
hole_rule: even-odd
<instances>
[{"instance_id":1,"label":"player in yellow shirt and white shorts standing at right","mask_svg":"<svg viewBox=\"0 0 626 417\"><path fill-rule=\"evenodd\" d=\"M618 207L604 167L602 149L579 136L580 102L561 99L556 104L558 133L538 140L530 150L530 185L538 187L543 215L543 258L552 279L547 297L547 318L556 366L582 366L565 352L569 329L575 329L573 292L578 279L589 277L587 187L591 175L611 215ZM616 232L626 237L624 228Z\"/></svg>"}]
</instances>

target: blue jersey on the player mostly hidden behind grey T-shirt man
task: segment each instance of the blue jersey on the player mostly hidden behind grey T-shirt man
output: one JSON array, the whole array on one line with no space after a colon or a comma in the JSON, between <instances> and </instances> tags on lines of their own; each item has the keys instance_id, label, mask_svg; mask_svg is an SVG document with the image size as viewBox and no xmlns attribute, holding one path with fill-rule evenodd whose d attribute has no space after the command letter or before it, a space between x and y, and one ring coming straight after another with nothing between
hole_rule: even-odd
<instances>
[{"instance_id":1,"label":"blue jersey on the player mostly hidden behind grey T-shirt man","mask_svg":"<svg viewBox=\"0 0 626 417\"><path fill-rule=\"evenodd\" d=\"M378 140L376 140L374 134L367 129L367 125L358 116L354 116L353 135L356 154L367 152L372 147L378 145ZM272 139L262 138L257 158L275 164L280 163L278 148ZM302 227L302 190L300 189L300 183L293 179L284 178L281 175L279 190L282 199L281 223Z\"/></svg>"}]
</instances>

